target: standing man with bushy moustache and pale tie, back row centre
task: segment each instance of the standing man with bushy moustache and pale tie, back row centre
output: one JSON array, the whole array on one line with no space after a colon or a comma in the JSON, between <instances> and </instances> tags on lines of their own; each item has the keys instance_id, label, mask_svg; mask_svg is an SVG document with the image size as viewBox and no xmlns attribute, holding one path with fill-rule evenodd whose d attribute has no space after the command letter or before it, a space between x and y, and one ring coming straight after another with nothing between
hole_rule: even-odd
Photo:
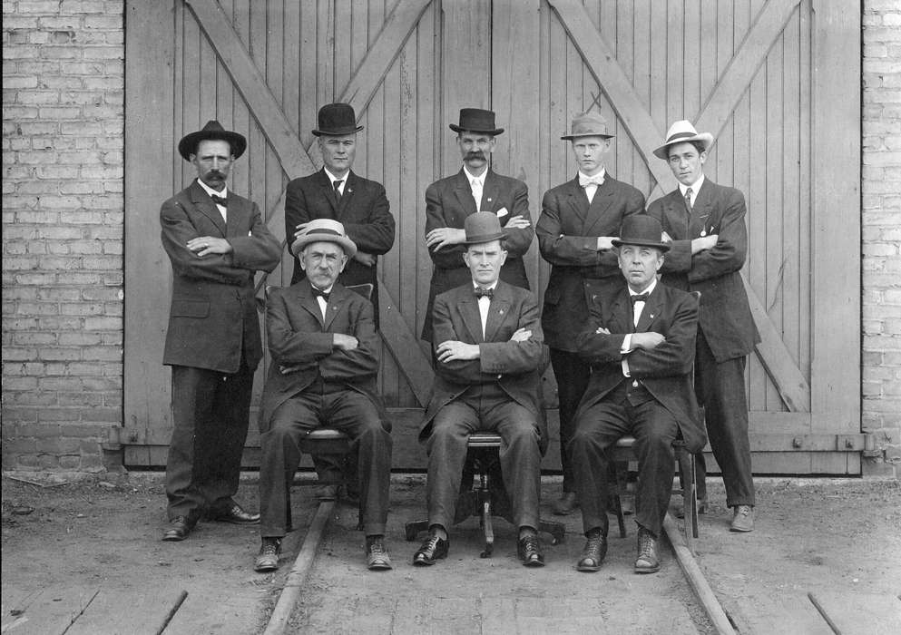
<instances>
[{"instance_id":1,"label":"standing man with bushy moustache and pale tie, back row centre","mask_svg":"<svg viewBox=\"0 0 901 635\"><path fill-rule=\"evenodd\" d=\"M529 288L523 256L532 244L534 228L529 216L529 190L523 181L502 176L488 167L495 151L497 135L495 113L480 108L460 110L459 125L450 124L457 133L456 143L463 156L463 167L453 176L435 181L426 189L426 246L434 265L428 289L426 320L422 338L433 340L432 308L440 293L457 288L470 279L463 254L466 250L464 221L476 211L490 211L504 227L507 259L501 279Z\"/></svg>"}]
</instances>

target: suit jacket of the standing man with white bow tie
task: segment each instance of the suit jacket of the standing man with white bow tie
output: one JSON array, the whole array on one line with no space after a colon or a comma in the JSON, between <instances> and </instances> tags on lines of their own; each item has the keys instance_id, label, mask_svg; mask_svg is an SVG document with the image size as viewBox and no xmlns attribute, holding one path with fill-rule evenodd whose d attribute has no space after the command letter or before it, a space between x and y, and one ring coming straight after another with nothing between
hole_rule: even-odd
<instances>
[{"instance_id":1,"label":"suit jacket of the standing man with white bow tie","mask_svg":"<svg viewBox=\"0 0 901 635\"><path fill-rule=\"evenodd\" d=\"M544 194L535 227L542 257L551 263L542 326L552 348L575 352L588 306L625 286L616 250L597 250L599 236L619 236L622 219L644 210L644 195L610 174L589 204L578 178Z\"/></svg>"}]
</instances>

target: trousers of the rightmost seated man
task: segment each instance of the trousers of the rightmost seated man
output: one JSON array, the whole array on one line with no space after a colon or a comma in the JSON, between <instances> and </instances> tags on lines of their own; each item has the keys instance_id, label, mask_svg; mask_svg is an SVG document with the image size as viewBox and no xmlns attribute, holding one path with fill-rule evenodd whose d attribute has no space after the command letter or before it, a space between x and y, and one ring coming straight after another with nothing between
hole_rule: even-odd
<instances>
[{"instance_id":1,"label":"trousers of the rightmost seated man","mask_svg":"<svg viewBox=\"0 0 901 635\"><path fill-rule=\"evenodd\" d=\"M641 405L625 399L619 403L604 400L582 411L569 452L585 532L596 528L607 532L608 449L620 437L632 435L638 455L635 521L660 535L670 505L675 464L672 442L678 434L675 418L654 399Z\"/></svg>"}]
</instances>

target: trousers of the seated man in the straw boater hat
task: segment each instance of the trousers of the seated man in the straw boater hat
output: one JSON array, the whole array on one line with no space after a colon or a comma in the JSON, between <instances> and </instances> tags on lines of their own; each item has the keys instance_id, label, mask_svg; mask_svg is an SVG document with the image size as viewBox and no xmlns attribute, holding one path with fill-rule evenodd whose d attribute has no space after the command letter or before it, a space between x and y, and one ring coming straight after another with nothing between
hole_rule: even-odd
<instances>
[{"instance_id":1,"label":"trousers of the seated man in the straw boater hat","mask_svg":"<svg viewBox=\"0 0 901 635\"><path fill-rule=\"evenodd\" d=\"M300 464L300 439L323 425L350 437L357 453L360 506L367 536L384 534L391 480L391 425L366 395L346 387L293 396L260 435L260 536L280 538L291 528L291 483Z\"/></svg>"}]
</instances>

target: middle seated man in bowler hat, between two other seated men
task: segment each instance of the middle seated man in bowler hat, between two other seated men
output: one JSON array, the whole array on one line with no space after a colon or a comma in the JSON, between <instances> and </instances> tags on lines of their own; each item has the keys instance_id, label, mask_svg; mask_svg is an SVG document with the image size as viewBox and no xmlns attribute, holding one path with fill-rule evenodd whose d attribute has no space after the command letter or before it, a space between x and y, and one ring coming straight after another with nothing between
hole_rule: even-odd
<instances>
[{"instance_id":1,"label":"middle seated man in bowler hat, between two other seated men","mask_svg":"<svg viewBox=\"0 0 901 635\"><path fill-rule=\"evenodd\" d=\"M463 254L472 282L435 300L435 390L419 433L428 452L429 537L415 565L447 555L447 528L475 432L501 436L500 461L519 527L518 553L525 566L544 566L538 541L541 457L547 441L539 405L544 336L531 291L499 281L507 252L494 212L466 217Z\"/></svg>"}]
</instances>

